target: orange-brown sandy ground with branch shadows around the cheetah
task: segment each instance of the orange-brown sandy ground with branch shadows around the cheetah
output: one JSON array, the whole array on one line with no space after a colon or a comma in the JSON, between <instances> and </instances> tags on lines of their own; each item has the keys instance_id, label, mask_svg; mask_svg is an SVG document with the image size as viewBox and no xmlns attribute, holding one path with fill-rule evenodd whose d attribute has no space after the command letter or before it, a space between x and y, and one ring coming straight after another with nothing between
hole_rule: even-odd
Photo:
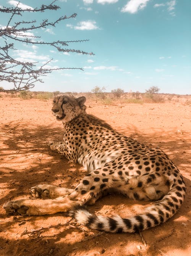
<instances>
[{"instance_id":1,"label":"orange-brown sandy ground with branch shadows around the cheetah","mask_svg":"<svg viewBox=\"0 0 191 256\"><path fill-rule=\"evenodd\" d=\"M178 102L115 106L87 102L86 105L88 113L104 119L125 135L160 147L171 157L187 185L183 206L167 223L142 231L144 240L136 234L91 231L76 225L65 213L6 215L3 204L13 198L29 198L32 186L49 183L74 188L86 172L47 145L49 140L62 139L62 123L52 116L51 101L3 97L0 98L0 255L188 256L191 252L190 106ZM140 212L144 205L147 203L108 195L88 209L97 214L126 217ZM30 233L67 221L70 222L66 226Z\"/></svg>"}]
</instances>

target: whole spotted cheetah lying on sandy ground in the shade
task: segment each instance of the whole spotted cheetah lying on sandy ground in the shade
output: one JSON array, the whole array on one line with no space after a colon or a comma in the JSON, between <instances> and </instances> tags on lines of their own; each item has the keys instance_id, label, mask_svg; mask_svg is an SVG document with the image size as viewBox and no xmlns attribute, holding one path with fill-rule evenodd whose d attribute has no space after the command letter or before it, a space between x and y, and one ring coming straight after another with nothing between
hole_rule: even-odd
<instances>
[{"instance_id":1,"label":"whole spotted cheetah lying on sandy ground in the shade","mask_svg":"<svg viewBox=\"0 0 191 256\"><path fill-rule=\"evenodd\" d=\"M101 119L86 113L85 97L58 95L52 113L63 123L62 142L49 142L50 149L83 165L88 174L75 189L53 185L31 188L34 198L9 201L7 213L45 215L70 212L70 216L91 229L138 232L164 223L180 208L185 182L178 168L160 149L144 145L112 129ZM84 205L94 204L108 191L130 199L152 201L144 212L131 217L100 216Z\"/></svg>"}]
</instances>

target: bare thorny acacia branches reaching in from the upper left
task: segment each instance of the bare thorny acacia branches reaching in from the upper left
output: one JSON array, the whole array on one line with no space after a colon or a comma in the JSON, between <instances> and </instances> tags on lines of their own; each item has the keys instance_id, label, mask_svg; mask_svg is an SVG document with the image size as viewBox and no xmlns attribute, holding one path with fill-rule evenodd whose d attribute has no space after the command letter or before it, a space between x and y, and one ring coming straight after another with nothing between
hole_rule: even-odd
<instances>
[{"instance_id":1,"label":"bare thorny acacia branches reaching in from the upper left","mask_svg":"<svg viewBox=\"0 0 191 256\"><path fill-rule=\"evenodd\" d=\"M72 53L81 53L93 55L93 53L87 53L85 51L70 49L70 43L78 43L89 40L75 40L75 41L43 41L40 40L40 36L35 36L31 33L34 30L40 30L48 27L55 27L58 23L63 20L75 18L76 13L73 13L70 16L63 16L55 20L54 22L49 22L48 19L42 20L41 23L37 23L36 20L26 21L22 20L22 15L24 13L42 13L47 10L56 11L60 7L54 3L57 0L54 0L49 5L41 5L39 8L32 8L26 5L19 5L17 3L16 7L3 7L0 8L0 13L7 14L8 20L6 25L0 27L0 81L9 82L12 86L12 89L5 90L0 87L0 91L6 92L17 92L22 90L28 90L34 87L35 83L43 83L42 76L46 76L48 73L51 73L53 70L59 69L81 69L82 68L50 68L50 65L47 65L52 61L50 59L45 64L39 66L39 62L32 61L20 61L14 58L13 50L17 50L14 46L15 42L24 43L27 45L38 45L44 46L49 45L57 49L58 52L72 52ZM13 23L13 18L16 17L17 22ZM27 56L26 56L27 57Z\"/></svg>"}]
</instances>

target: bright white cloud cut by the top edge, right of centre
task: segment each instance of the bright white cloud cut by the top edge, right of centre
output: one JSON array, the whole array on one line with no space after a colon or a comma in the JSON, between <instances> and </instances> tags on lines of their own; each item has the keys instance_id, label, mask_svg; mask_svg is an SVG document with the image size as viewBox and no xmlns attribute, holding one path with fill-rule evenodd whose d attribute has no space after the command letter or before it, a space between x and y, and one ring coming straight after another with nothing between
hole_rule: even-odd
<instances>
[{"instance_id":1,"label":"bright white cloud cut by the top edge, right of centre","mask_svg":"<svg viewBox=\"0 0 191 256\"><path fill-rule=\"evenodd\" d=\"M136 13L138 10L144 9L147 2L150 0L130 0L122 9L121 12Z\"/></svg>"}]
</instances>

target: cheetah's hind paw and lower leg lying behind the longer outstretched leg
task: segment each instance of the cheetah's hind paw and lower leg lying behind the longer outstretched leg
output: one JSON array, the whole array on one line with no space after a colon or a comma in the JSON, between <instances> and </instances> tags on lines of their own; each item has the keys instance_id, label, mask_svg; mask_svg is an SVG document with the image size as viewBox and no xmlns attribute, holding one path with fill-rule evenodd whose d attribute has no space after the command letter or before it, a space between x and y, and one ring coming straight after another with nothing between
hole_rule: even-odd
<instances>
[{"instance_id":1,"label":"cheetah's hind paw and lower leg lying behind the longer outstretched leg","mask_svg":"<svg viewBox=\"0 0 191 256\"><path fill-rule=\"evenodd\" d=\"M73 189L60 188L53 185L43 184L32 187L30 192L34 198L55 199L58 197L65 197L66 195L70 195L71 192L73 192Z\"/></svg>"}]
</instances>

